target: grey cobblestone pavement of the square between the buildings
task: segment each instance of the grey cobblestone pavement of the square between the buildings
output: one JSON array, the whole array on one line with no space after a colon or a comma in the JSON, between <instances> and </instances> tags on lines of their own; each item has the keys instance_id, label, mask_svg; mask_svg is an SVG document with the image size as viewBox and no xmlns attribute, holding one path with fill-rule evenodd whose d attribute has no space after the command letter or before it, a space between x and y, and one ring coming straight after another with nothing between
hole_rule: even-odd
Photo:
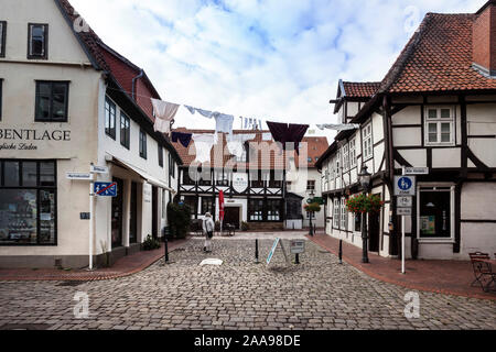
<instances>
[{"instance_id":1,"label":"grey cobblestone pavement of the square between the buildings","mask_svg":"<svg viewBox=\"0 0 496 352\"><path fill-rule=\"evenodd\" d=\"M266 258L271 240L260 242ZM287 242L287 249L289 243ZM67 286L57 282L0 284L0 329L496 329L496 305L419 293L420 317L407 319L408 289L378 282L306 242L301 265L255 264L255 241L215 240L214 252L191 240L133 276ZM200 266L207 257L222 266ZM76 293L89 317L76 319Z\"/></svg>"}]
</instances>

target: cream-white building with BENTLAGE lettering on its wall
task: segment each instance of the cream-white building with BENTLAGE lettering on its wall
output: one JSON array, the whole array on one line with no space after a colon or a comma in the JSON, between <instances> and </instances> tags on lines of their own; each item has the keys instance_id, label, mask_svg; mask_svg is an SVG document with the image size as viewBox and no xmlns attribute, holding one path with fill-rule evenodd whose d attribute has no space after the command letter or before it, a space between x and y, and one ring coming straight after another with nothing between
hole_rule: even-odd
<instances>
[{"instance_id":1,"label":"cream-white building with BENTLAGE lettering on its wall","mask_svg":"<svg viewBox=\"0 0 496 352\"><path fill-rule=\"evenodd\" d=\"M148 234L161 235L177 189L181 158L153 131L149 97L160 96L76 20L65 0L0 2L3 267L84 267L90 246L94 263L138 251ZM108 167L94 180L118 190L94 197L87 220L89 180L67 173L90 164Z\"/></svg>"}]
</instances>

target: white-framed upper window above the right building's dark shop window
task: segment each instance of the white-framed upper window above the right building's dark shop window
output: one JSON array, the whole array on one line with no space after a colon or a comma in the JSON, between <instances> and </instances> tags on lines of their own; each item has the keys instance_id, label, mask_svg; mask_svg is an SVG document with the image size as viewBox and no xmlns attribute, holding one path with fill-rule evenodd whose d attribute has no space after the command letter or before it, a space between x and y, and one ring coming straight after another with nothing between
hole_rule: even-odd
<instances>
[{"instance_id":1,"label":"white-framed upper window above the right building's dark shop window","mask_svg":"<svg viewBox=\"0 0 496 352\"><path fill-rule=\"evenodd\" d=\"M454 108L427 108L425 144L454 144Z\"/></svg>"}]
</instances>

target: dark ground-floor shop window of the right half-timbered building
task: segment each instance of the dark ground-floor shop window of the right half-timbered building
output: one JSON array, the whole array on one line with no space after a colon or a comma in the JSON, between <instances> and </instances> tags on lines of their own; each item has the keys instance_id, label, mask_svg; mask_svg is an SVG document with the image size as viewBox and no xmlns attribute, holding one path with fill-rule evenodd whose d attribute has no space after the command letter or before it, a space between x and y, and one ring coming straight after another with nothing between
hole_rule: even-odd
<instances>
[{"instance_id":1,"label":"dark ground-floor shop window of the right half-timbered building","mask_svg":"<svg viewBox=\"0 0 496 352\"><path fill-rule=\"evenodd\" d=\"M451 240L453 189L422 187L419 193L419 238Z\"/></svg>"}]
</instances>

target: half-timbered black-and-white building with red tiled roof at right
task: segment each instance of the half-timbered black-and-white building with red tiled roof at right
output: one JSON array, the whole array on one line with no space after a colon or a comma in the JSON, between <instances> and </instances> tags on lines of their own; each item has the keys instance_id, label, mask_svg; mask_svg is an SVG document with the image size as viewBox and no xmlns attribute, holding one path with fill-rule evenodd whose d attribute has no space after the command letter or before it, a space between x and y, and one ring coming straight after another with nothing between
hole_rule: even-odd
<instances>
[{"instance_id":1,"label":"half-timbered black-and-white building with red tiled roof at right","mask_svg":"<svg viewBox=\"0 0 496 352\"><path fill-rule=\"evenodd\" d=\"M362 246L359 216L345 202L363 191L365 164L385 201L368 217L369 251L398 255L395 176L428 167L407 217L407 257L496 252L495 30L496 1L473 14L428 13L382 81L339 81L336 112L360 128L338 133L317 163L327 234Z\"/></svg>"}]
</instances>

